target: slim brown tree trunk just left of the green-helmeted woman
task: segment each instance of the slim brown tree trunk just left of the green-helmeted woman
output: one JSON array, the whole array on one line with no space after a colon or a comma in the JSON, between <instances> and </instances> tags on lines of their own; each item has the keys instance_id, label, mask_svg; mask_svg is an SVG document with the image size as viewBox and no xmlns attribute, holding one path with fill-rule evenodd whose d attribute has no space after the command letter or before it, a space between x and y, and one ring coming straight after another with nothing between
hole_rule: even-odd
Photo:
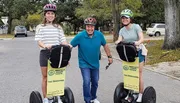
<instances>
[{"instance_id":1,"label":"slim brown tree trunk just left of the green-helmeted woman","mask_svg":"<svg viewBox=\"0 0 180 103\"><path fill-rule=\"evenodd\" d=\"M119 37L119 7L118 7L119 1L117 0L111 0L111 6L112 6L112 13L113 13L113 41L116 41Z\"/></svg>"}]
</instances>

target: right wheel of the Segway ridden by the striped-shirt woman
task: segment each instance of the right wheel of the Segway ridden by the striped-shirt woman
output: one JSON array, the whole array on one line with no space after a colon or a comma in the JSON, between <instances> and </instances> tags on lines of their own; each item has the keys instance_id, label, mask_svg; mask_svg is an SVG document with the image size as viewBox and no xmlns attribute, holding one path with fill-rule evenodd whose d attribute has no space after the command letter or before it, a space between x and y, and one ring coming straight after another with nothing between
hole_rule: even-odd
<instances>
[{"instance_id":1,"label":"right wheel of the Segway ridden by the striped-shirt woman","mask_svg":"<svg viewBox=\"0 0 180 103\"><path fill-rule=\"evenodd\" d=\"M75 103L73 92L69 87L65 87L64 95L61 98L63 103Z\"/></svg>"}]
</instances>

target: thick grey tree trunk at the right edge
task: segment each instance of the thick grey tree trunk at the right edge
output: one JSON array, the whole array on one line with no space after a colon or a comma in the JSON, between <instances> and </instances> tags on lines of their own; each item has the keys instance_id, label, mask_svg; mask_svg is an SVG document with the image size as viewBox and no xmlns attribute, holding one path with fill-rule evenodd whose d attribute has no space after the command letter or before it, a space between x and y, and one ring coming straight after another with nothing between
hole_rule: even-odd
<instances>
[{"instance_id":1,"label":"thick grey tree trunk at the right edge","mask_svg":"<svg viewBox=\"0 0 180 103\"><path fill-rule=\"evenodd\" d=\"M180 0L165 0L165 38L163 49L180 48Z\"/></svg>"}]
</instances>

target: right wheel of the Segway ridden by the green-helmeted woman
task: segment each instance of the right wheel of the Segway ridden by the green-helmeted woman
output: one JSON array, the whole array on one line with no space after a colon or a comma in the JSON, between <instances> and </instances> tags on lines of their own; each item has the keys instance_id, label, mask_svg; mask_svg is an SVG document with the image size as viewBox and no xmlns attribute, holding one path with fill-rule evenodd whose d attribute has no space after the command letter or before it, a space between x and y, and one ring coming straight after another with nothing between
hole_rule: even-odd
<instances>
[{"instance_id":1,"label":"right wheel of the Segway ridden by the green-helmeted woman","mask_svg":"<svg viewBox=\"0 0 180 103\"><path fill-rule=\"evenodd\" d=\"M156 91L152 86L144 90L142 103L156 103Z\"/></svg>"}]
</instances>

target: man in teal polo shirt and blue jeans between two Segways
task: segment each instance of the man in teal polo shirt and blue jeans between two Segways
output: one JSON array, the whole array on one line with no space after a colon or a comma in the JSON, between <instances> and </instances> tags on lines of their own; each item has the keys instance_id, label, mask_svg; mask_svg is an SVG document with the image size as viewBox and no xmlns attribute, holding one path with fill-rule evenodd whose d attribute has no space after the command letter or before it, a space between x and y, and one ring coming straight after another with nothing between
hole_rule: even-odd
<instances>
[{"instance_id":1,"label":"man in teal polo shirt and blue jeans between two Segways","mask_svg":"<svg viewBox=\"0 0 180 103\"><path fill-rule=\"evenodd\" d=\"M104 35L95 30L96 19L88 17L84 20L85 30L77 34L71 41L73 47L78 46L79 68L83 79L83 96L85 103L100 103L96 92L99 81L99 55L101 45L104 47L109 63L113 62L110 49Z\"/></svg>"}]
</instances>

